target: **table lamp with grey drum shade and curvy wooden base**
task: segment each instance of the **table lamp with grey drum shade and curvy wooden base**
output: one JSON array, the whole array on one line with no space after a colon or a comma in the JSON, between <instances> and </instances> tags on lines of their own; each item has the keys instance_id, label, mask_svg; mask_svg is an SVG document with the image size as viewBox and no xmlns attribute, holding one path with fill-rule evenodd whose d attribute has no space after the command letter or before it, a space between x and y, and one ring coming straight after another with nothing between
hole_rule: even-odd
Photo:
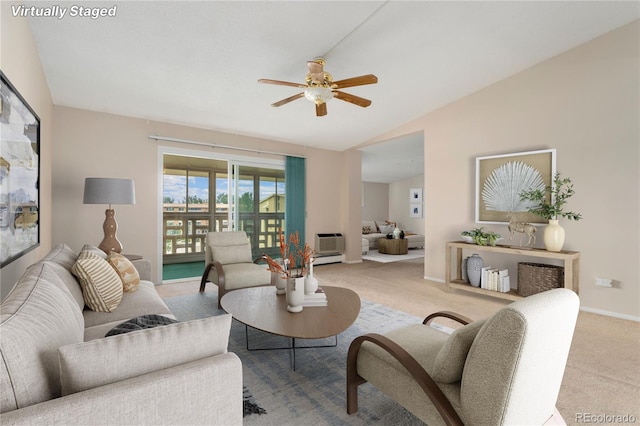
<instances>
[{"instance_id":1,"label":"table lamp with grey drum shade and curvy wooden base","mask_svg":"<svg viewBox=\"0 0 640 426\"><path fill-rule=\"evenodd\" d=\"M120 253L122 244L116 238L118 223L116 222L116 212L111 208L111 204L135 204L136 193L132 179L117 178L86 178L84 180L84 204L108 204L105 211L105 220L102 225L104 239L98 246L102 251L109 254L112 251Z\"/></svg>"}]
</instances>

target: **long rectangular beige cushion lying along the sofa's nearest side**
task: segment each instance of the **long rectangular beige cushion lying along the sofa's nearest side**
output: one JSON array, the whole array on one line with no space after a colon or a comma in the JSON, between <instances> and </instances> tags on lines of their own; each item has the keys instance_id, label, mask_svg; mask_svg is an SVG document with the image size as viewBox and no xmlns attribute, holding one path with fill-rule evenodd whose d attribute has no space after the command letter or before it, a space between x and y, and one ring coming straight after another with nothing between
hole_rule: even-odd
<instances>
[{"instance_id":1,"label":"long rectangular beige cushion lying along the sofa's nearest side","mask_svg":"<svg viewBox=\"0 0 640 426\"><path fill-rule=\"evenodd\" d=\"M226 353L230 329L231 315L224 314L62 346L58 350L62 393Z\"/></svg>"}]
</instances>

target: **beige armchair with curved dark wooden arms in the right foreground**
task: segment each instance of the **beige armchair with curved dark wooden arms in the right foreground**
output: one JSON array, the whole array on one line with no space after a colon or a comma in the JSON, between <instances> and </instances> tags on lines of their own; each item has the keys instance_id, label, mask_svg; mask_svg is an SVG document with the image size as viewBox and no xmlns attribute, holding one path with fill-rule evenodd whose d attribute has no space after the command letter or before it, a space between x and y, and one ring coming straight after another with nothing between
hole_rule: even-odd
<instances>
[{"instance_id":1,"label":"beige armchair with curved dark wooden arms in the right foreground","mask_svg":"<svg viewBox=\"0 0 640 426\"><path fill-rule=\"evenodd\" d=\"M571 290L511 303L451 335L429 323L356 338L347 356L347 412L370 382L431 425L562 424L555 409L578 316Z\"/></svg>"}]
</instances>

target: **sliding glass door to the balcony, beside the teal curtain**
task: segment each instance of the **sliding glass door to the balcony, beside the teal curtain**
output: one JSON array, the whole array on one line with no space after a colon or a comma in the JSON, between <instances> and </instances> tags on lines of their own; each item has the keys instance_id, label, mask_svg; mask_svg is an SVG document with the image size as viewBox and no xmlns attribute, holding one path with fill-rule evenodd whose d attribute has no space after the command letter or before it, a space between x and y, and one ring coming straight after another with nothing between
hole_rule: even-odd
<instances>
[{"instance_id":1,"label":"sliding glass door to the balcony, beside the teal curtain","mask_svg":"<svg viewBox=\"0 0 640 426\"><path fill-rule=\"evenodd\" d=\"M279 252L284 165L163 156L163 264L204 259L207 232L242 230L254 257Z\"/></svg>"}]
</instances>

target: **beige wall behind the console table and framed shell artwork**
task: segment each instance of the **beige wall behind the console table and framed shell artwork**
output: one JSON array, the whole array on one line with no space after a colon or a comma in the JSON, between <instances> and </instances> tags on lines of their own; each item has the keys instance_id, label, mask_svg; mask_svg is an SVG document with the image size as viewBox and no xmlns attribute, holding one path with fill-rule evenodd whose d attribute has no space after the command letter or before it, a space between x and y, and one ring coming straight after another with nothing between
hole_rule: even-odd
<instances>
[{"instance_id":1,"label":"beige wall behind the console table and framed shell artwork","mask_svg":"<svg viewBox=\"0 0 640 426\"><path fill-rule=\"evenodd\" d=\"M640 319L639 39L635 21L376 138L424 131L425 276L444 279L444 243L476 226L476 157L555 148L584 216L561 220L582 253L581 304Z\"/></svg>"}]
</instances>

